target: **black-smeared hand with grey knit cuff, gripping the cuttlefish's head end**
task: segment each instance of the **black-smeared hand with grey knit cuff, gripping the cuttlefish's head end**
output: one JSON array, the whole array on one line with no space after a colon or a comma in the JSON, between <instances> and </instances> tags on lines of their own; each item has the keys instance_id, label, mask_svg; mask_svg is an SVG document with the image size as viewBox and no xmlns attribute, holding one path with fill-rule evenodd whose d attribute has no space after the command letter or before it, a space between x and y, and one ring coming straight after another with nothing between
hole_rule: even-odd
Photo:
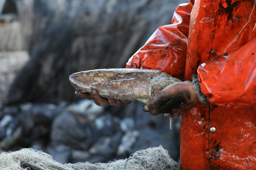
<instances>
[{"instance_id":1,"label":"black-smeared hand with grey knit cuff, gripping the cuttlefish's head end","mask_svg":"<svg viewBox=\"0 0 256 170\"><path fill-rule=\"evenodd\" d=\"M153 116L165 114L165 117L174 117L187 113L198 102L193 83L185 81L165 87L142 108Z\"/></svg>"}]
</instances>

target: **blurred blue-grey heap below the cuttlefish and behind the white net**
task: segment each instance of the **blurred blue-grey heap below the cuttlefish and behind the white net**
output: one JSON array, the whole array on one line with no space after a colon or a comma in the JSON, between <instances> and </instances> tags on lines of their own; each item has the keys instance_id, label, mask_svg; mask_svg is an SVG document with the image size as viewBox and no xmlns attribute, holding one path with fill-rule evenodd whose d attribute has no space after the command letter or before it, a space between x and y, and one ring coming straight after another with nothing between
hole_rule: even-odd
<instances>
[{"instance_id":1,"label":"blurred blue-grey heap below the cuttlefish and behind the white net","mask_svg":"<svg viewBox=\"0 0 256 170\"><path fill-rule=\"evenodd\" d=\"M179 118L171 131L168 119L143 112L142 105L97 106L86 99L58 105L0 104L0 149L42 150L60 163L104 163L162 145L179 161Z\"/></svg>"}]
</instances>

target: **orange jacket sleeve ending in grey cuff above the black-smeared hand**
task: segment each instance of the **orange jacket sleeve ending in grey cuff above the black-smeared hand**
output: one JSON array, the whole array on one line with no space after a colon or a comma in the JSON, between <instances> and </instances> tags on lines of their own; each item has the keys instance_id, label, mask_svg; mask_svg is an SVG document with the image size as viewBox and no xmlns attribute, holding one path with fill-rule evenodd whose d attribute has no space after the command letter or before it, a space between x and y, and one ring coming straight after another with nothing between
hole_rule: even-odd
<instances>
[{"instance_id":1,"label":"orange jacket sleeve ending in grey cuff above the black-smeared hand","mask_svg":"<svg viewBox=\"0 0 256 170\"><path fill-rule=\"evenodd\" d=\"M256 38L199 66L201 91L211 103L256 107Z\"/></svg>"}]
</instances>

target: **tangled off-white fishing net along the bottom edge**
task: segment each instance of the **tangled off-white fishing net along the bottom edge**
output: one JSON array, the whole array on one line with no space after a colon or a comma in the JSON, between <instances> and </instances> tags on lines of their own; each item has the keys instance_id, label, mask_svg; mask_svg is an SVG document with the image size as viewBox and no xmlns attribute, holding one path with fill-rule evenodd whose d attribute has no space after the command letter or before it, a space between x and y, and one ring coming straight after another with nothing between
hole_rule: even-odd
<instances>
[{"instance_id":1,"label":"tangled off-white fishing net along the bottom edge","mask_svg":"<svg viewBox=\"0 0 256 170\"><path fill-rule=\"evenodd\" d=\"M31 148L0 154L1 170L179 170L162 146L139 150L129 158L109 163L61 164L52 155Z\"/></svg>"}]
</instances>

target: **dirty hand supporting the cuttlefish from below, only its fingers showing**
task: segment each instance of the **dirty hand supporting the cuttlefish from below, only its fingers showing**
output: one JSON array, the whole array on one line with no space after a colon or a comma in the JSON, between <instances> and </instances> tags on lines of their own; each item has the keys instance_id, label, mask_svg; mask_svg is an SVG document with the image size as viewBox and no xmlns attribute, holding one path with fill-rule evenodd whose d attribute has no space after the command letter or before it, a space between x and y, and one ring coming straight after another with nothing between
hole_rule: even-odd
<instances>
[{"instance_id":1,"label":"dirty hand supporting the cuttlefish from below, only its fingers showing","mask_svg":"<svg viewBox=\"0 0 256 170\"><path fill-rule=\"evenodd\" d=\"M95 89L90 89L89 93L83 93L80 90L76 90L75 95L80 96L82 98L86 98L88 100L93 100L94 103L97 104L98 106L103 106L108 104L112 106L121 106L121 105L126 105L131 103L131 101L128 101L128 100L118 100L110 97L103 98L98 94L98 91Z\"/></svg>"}]
</instances>

